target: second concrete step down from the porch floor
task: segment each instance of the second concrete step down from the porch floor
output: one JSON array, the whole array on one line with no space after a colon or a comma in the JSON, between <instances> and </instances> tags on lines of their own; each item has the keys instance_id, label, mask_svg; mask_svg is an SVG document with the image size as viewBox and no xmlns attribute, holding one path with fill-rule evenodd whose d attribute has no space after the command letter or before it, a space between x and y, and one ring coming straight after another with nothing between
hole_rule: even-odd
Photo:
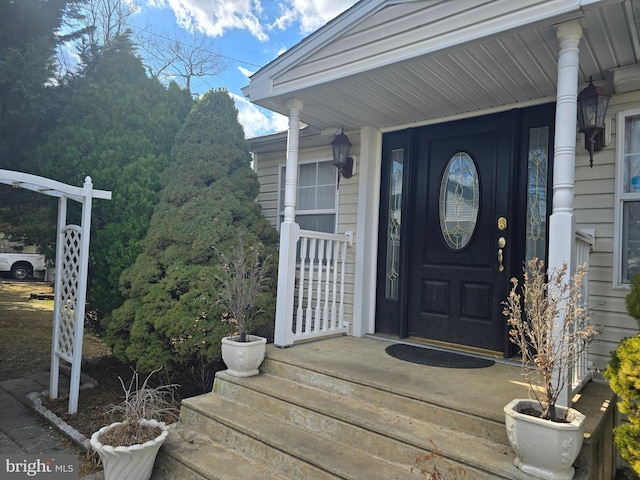
<instances>
[{"instance_id":1,"label":"second concrete step down from the porch floor","mask_svg":"<svg viewBox=\"0 0 640 480\"><path fill-rule=\"evenodd\" d=\"M452 430L270 374L239 379L220 372L214 391L236 404L259 405L265 415L330 442L400 465L412 466L420 454L437 448L443 463L462 467L472 478L529 478L513 466L508 445L464 432L464 426Z\"/></svg>"}]
</instances>

